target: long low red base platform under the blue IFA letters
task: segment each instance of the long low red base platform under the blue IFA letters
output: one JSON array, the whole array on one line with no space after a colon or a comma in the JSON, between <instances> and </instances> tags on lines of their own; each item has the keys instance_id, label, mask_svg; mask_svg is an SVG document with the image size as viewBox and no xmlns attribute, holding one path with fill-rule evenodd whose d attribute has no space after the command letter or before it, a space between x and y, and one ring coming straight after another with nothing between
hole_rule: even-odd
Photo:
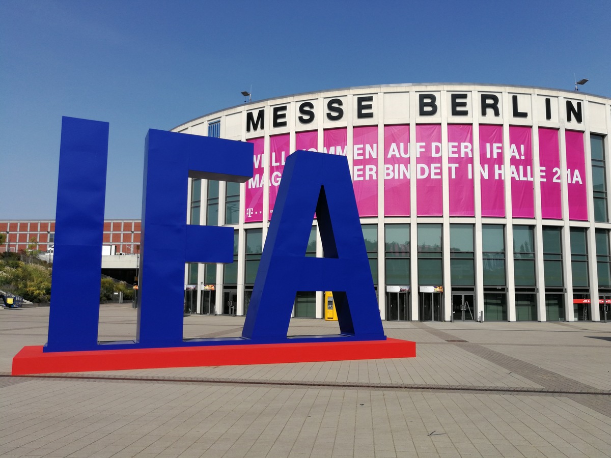
<instances>
[{"instance_id":1,"label":"long low red base platform under the blue IFA letters","mask_svg":"<svg viewBox=\"0 0 611 458\"><path fill-rule=\"evenodd\" d=\"M23 347L13 358L13 376L121 369L413 358L416 355L415 342L398 339L49 353L43 353L42 349L42 346Z\"/></svg>"}]
</instances>

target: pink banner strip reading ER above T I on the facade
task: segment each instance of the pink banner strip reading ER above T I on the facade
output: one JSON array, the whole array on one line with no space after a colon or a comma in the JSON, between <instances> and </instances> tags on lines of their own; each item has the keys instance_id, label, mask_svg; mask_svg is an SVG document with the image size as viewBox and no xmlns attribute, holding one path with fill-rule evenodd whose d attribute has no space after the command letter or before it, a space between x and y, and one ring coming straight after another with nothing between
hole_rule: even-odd
<instances>
[{"instance_id":1,"label":"pink banner strip reading ER above T I on the facade","mask_svg":"<svg viewBox=\"0 0 611 458\"><path fill-rule=\"evenodd\" d=\"M448 125L450 216L475 216L473 126Z\"/></svg>"}]
</instances>

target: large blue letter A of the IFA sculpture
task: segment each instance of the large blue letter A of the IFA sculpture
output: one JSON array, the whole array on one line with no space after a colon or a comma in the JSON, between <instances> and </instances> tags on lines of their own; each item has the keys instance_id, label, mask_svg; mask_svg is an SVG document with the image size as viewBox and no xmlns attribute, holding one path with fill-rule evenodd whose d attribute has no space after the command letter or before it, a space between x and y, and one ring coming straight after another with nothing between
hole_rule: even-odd
<instances>
[{"instance_id":1,"label":"large blue letter A of the IFA sculpture","mask_svg":"<svg viewBox=\"0 0 611 458\"><path fill-rule=\"evenodd\" d=\"M305 257L315 212L324 258ZM288 156L243 337L286 342L298 291L333 291L341 334L290 341L386 339L344 156Z\"/></svg>"}]
</instances>

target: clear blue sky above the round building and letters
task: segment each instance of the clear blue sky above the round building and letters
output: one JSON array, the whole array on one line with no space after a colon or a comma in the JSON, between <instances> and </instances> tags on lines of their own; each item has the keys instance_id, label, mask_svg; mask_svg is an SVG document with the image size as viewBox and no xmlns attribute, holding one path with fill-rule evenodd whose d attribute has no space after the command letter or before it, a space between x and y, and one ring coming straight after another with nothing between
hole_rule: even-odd
<instances>
[{"instance_id":1,"label":"clear blue sky above the round building and letters","mask_svg":"<svg viewBox=\"0 0 611 458\"><path fill-rule=\"evenodd\" d=\"M110 123L107 218L139 218L147 129L403 82L611 96L611 2L0 2L0 219L53 219L62 115Z\"/></svg>"}]
</instances>

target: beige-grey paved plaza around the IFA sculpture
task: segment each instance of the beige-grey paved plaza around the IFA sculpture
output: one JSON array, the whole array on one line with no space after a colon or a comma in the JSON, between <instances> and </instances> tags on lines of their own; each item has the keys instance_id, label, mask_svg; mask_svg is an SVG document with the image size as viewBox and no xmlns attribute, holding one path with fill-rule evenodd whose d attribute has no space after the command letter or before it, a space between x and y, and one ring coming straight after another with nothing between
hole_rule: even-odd
<instances>
[{"instance_id":1,"label":"beige-grey paved plaza around the IFA sculpture","mask_svg":"<svg viewBox=\"0 0 611 458\"><path fill-rule=\"evenodd\" d=\"M611 323L384 322L416 358L10 376L48 316L0 310L3 457L611 456ZM186 316L185 337L243 323ZM100 340L135 333L131 305L101 305Z\"/></svg>"}]
</instances>

